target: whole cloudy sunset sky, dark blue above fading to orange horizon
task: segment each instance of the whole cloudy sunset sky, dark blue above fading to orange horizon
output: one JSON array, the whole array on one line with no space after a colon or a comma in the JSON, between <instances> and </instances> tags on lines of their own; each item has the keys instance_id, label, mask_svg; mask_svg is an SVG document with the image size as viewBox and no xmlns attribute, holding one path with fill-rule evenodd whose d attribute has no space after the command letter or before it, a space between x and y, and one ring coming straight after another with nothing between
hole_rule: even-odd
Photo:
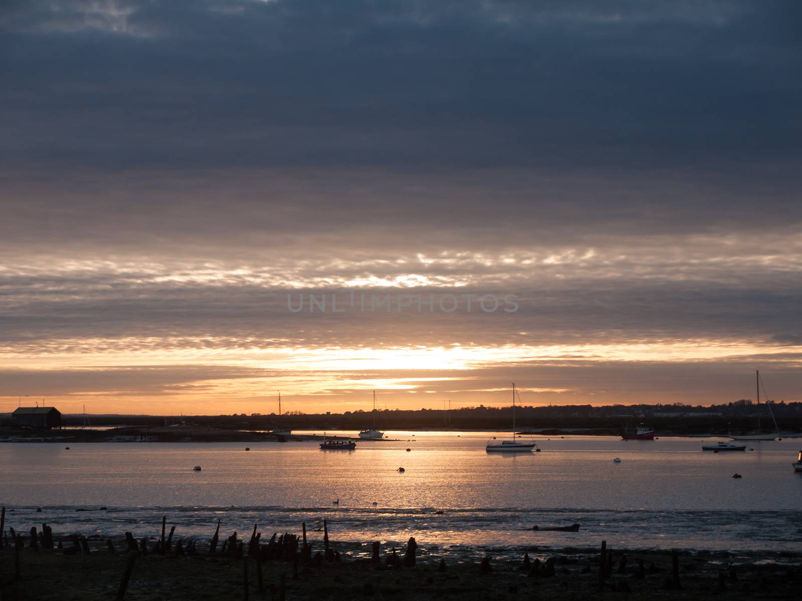
<instances>
[{"instance_id":1,"label":"whole cloudy sunset sky, dark blue above fading to orange horizon","mask_svg":"<svg viewBox=\"0 0 802 601\"><path fill-rule=\"evenodd\" d=\"M800 30L6 0L0 411L802 400Z\"/></svg>"}]
</instances>

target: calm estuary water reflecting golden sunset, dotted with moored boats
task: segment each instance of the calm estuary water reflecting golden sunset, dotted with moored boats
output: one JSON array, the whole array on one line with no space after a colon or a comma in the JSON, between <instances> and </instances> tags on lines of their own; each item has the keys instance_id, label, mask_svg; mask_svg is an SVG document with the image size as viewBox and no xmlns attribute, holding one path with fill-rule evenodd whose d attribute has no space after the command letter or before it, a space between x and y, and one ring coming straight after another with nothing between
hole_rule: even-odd
<instances>
[{"instance_id":1,"label":"calm estuary water reflecting golden sunset, dotted with moored boats","mask_svg":"<svg viewBox=\"0 0 802 601\"><path fill-rule=\"evenodd\" d=\"M430 550L475 553L602 539L616 548L802 551L802 474L791 466L800 439L714 454L698 438L536 436L540 453L488 454L488 438L503 435L386 434L395 440L360 441L354 451L317 442L252 442L250 451L229 442L3 443L0 503L7 526L47 522L55 534L102 538L154 536L167 515L176 535L203 539L221 519L221 534L254 523L299 532L306 522L317 540L325 518L344 548L415 536ZM100 506L107 510L76 511ZM532 529L572 523L581 530Z\"/></svg>"}]
</instances>

